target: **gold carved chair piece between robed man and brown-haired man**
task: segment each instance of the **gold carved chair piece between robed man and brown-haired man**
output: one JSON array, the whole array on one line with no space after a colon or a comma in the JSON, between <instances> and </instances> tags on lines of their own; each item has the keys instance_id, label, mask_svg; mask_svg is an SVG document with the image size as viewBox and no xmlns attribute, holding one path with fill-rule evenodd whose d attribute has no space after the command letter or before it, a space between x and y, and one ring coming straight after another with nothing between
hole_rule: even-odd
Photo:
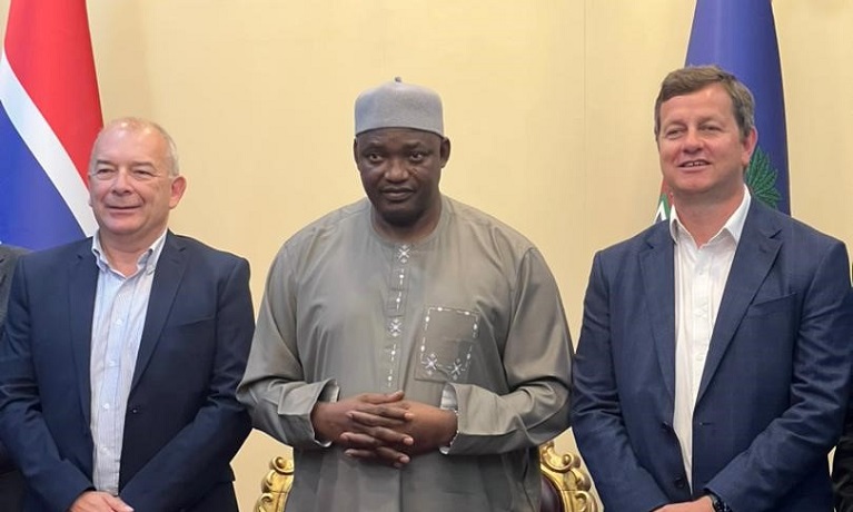
<instances>
[{"instance_id":1,"label":"gold carved chair piece between robed man and brown-haired man","mask_svg":"<svg viewBox=\"0 0 853 512\"><path fill-rule=\"evenodd\" d=\"M574 453L558 454L554 441L539 446L542 475L557 490L566 512L598 512L598 502L589 492L592 481Z\"/></svg>"}]
</instances>

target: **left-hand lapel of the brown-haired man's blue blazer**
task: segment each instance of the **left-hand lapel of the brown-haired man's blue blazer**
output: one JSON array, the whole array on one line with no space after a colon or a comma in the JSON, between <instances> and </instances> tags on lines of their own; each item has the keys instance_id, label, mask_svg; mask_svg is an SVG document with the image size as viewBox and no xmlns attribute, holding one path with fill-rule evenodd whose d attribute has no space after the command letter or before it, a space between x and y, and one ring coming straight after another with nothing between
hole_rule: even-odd
<instances>
[{"instance_id":1,"label":"left-hand lapel of the brown-haired man's blue blazer","mask_svg":"<svg viewBox=\"0 0 853 512\"><path fill-rule=\"evenodd\" d=\"M675 400L675 274L673 239L668 224L661 223L646 239L648 249L639 254L639 268L651 316L657 362L671 403Z\"/></svg>"}]
</instances>

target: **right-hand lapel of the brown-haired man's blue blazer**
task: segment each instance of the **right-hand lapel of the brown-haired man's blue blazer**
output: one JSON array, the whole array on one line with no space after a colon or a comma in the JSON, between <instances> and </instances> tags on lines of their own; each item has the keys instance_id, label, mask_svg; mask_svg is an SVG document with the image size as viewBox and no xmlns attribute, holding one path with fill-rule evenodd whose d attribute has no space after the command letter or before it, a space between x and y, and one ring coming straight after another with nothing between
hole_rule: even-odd
<instances>
[{"instance_id":1,"label":"right-hand lapel of the brown-haired man's blue blazer","mask_svg":"<svg viewBox=\"0 0 853 512\"><path fill-rule=\"evenodd\" d=\"M757 199L752 199L723 291L723 298L720 302L716 322L714 322L714 332L711 335L711 346L702 372L696 403L702 400L746 309L755 298L782 247L782 240L776 238L781 228L765 208L758 204Z\"/></svg>"}]
</instances>

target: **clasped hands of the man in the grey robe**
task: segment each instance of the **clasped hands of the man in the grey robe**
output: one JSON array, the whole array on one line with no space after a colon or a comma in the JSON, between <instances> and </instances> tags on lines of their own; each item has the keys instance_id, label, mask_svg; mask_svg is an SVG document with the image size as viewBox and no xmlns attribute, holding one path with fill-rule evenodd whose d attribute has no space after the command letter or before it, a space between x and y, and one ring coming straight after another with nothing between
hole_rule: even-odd
<instances>
[{"instance_id":1,"label":"clasped hands of the man in the grey robe","mask_svg":"<svg viewBox=\"0 0 853 512\"><path fill-rule=\"evenodd\" d=\"M438 450L456 435L456 414L395 393L363 393L318 402L311 411L317 439L348 456L403 467L411 457Z\"/></svg>"}]
</instances>

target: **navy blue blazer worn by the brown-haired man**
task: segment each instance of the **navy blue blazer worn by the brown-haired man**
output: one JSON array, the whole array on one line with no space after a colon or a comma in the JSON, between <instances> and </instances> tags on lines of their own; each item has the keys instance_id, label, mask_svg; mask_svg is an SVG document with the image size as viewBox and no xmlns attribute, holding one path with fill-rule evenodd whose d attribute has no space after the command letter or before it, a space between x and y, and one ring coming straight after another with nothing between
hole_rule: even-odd
<instances>
[{"instance_id":1,"label":"navy blue blazer worn by the brown-haired man","mask_svg":"<svg viewBox=\"0 0 853 512\"><path fill-rule=\"evenodd\" d=\"M741 512L832 511L826 455L851 381L844 245L753 199L693 415L693 491L672 426L668 223L595 256L574 367L573 426L608 512L707 490Z\"/></svg>"}]
</instances>

